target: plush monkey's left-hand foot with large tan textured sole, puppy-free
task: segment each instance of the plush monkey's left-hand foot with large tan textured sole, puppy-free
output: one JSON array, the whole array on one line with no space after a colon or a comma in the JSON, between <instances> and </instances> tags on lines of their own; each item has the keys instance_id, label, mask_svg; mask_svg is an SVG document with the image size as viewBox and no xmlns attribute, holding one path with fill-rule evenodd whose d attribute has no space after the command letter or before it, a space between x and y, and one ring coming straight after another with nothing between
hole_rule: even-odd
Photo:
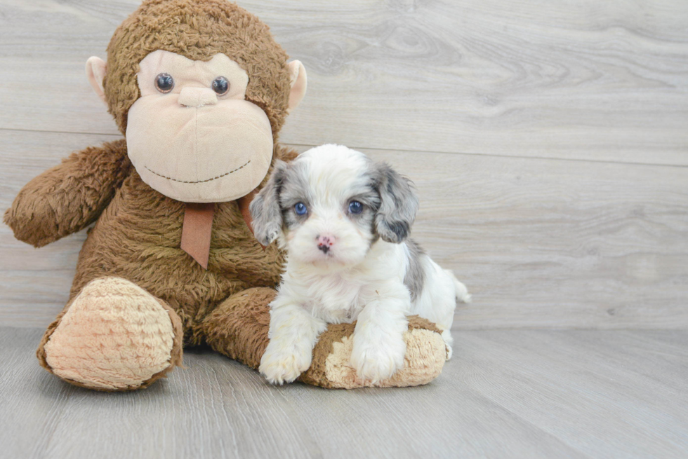
<instances>
[{"instance_id":1,"label":"plush monkey's left-hand foot with large tan textured sole, puppy-free","mask_svg":"<svg viewBox=\"0 0 688 459\"><path fill-rule=\"evenodd\" d=\"M106 391L145 388L182 362L179 316L133 282L89 282L48 327L37 357L68 383Z\"/></svg>"}]
</instances>

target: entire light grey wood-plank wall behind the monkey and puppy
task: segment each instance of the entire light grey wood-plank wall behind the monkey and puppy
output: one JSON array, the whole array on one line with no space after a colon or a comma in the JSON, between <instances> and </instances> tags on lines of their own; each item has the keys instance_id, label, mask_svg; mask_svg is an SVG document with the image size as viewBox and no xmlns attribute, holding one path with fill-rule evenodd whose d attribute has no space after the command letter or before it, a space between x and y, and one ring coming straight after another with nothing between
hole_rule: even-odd
<instances>
[{"instance_id":1,"label":"entire light grey wood-plank wall behind the monkey and puppy","mask_svg":"<svg viewBox=\"0 0 688 459\"><path fill-rule=\"evenodd\" d=\"M688 2L240 1L308 71L281 141L388 160L474 294L456 329L688 326ZM0 209L119 136L84 76L137 0L0 1ZM62 308L84 233L0 226L0 323Z\"/></svg>"}]
</instances>

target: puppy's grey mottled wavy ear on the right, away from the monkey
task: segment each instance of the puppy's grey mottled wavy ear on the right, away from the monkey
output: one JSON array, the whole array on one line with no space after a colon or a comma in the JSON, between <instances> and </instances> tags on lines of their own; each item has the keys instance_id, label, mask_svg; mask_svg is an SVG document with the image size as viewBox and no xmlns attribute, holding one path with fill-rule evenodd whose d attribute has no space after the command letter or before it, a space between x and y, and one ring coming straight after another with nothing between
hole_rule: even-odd
<instances>
[{"instance_id":1,"label":"puppy's grey mottled wavy ear on the right, away from the monkey","mask_svg":"<svg viewBox=\"0 0 688 459\"><path fill-rule=\"evenodd\" d=\"M376 186L380 208L375 216L375 229L387 242L398 244L409 237L418 213L418 195L414 186L390 165L376 164Z\"/></svg>"}]
</instances>

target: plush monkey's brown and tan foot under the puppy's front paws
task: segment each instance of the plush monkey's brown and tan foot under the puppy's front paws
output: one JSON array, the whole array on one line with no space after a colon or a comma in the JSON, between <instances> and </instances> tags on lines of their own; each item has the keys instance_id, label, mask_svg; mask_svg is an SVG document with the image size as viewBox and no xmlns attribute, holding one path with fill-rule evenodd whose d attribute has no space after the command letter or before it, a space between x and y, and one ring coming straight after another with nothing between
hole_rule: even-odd
<instances>
[{"instance_id":1,"label":"plush monkey's brown and tan foot under the puppy's front paws","mask_svg":"<svg viewBox=\"0 0 688 459\"><path fill-rule=\"evenodd\" d=\"M349 366L355 323L330 325L319 338L313 351L313 363L300 376L304 383L328 389L391 388L430 383L442 373L446 345L439 329L418 316L409 317L409 331L404 335L406 356L404 368L391 378L378 383L362 381Z\"/></svg>"}]
</instances>

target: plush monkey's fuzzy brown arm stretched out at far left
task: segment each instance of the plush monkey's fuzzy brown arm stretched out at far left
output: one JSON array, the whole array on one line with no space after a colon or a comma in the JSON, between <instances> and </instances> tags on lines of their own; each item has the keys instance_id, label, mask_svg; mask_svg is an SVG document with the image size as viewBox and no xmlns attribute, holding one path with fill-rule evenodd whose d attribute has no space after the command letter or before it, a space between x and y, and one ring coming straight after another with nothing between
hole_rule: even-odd
<instances>
[{"instance_id":1,"label":"plush monkey's fuzzy brown arm stretched out at far left","mask_svg":"<svg viewBox=\"0 0 688 459\"><path fill-rule=\"evenodd\" d=\"M72 153L29 181L4 221L18 240L42 247L93 223L130 169L125 139Z\"/></svg>"}]
</instances>

